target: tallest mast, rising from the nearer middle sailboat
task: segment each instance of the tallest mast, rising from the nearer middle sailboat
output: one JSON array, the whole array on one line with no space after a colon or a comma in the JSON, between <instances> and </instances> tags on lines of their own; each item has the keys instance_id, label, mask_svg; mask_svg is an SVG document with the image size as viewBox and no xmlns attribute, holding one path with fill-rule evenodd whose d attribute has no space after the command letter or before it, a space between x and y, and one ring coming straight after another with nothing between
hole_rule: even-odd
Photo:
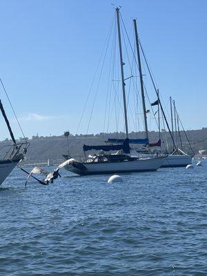
<instances>
[{"instance_id":1,"label":"tallest mast, rising from the nearer middle sailboat","mask_svg":"<svg viewBox=\"0 0 207 276\"><path fill-rule=\"evenodd\" d=\"M124 83L124 62L122 57L122 48L121 48L121 30L120 30L120 20L119 20L119 8L116 8L117 12L117 28L119 36L119 54L120 54L120 64L121 64L121 83L122 83L122 92L124 100L124 120L125 120L125 130L126 138L128 138L128 121L127 121L127 110L126 110L126 92L125 92L125 83Z\"/></svg>"}]
</instances>

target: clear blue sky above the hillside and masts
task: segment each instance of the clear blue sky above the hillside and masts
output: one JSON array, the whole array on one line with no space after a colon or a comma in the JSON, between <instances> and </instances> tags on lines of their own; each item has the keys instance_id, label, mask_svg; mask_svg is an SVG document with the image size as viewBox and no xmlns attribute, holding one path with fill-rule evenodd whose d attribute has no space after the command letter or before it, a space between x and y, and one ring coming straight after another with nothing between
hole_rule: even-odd
<instances>
[{"instance_id":1,"label":"clear blue sky above the hillside and masts","mask_svg":"<svg viewBox=\"0 0 207 276\"><path fill-rule=\"evenodd\" d=\"M68 129L75 134L114 17L111 3L121 6L127 28L137 18L161 95L177 101L186 129L207 126L206 0L1 0L0 77L27 137ZM89 132L103 130L101 108ZM8 131L0 122L0 139L5 139ZM81 126L79 133L84 132Z\"/></svg>"}]
</instances>

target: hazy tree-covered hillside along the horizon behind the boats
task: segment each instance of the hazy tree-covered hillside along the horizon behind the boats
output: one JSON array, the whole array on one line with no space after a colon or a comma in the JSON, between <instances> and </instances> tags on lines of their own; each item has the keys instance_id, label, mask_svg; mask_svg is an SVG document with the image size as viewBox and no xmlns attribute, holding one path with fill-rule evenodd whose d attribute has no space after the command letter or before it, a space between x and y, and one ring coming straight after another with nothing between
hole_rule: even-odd
<instances>
[{"instance_id":1,"label":"hazy tree-covered hillside along the horizon behind the boats","mask_svg":"<svg viewBox=\"0 0 207 276\"><path fill-rule=\"evenodd\" d=\"M186 134L190 140L191 146L197 154L199 150L207 150L207 128L202 128L201 130L187 130ZM161 133L163 139L164 137L169 137L168 132ZM70 154L72 157L84 157L83 155L83 144L88 145L98 145L102 144L106 139L110 138L124 138L124 133L99 133L97 135L70 135L69 137L69 147ZM130 133L130 138L143 138L144 132L132 132ZM157 141L159 138L158 132L149 132L150 141ZM181 138L183 141L183 147L186 152L191 153L190 147L188 146L184 132L181 132ZM21 140L21 139L20 139ZM169 139L170 140L170 139ZM8 141L8 139L7 139ZM62 155L67 154L67 138L62 136L52 136L52 137L38 137L33 136L29 140L30 147L28 148L28 154L26 155L26 164L34 163L46 163L50 159L51 164L58 164L63 160ZM6 141L1 141L1 146L5 144ZM88 155L88 154L87 154Z\"/></svg>"}]
</instances>

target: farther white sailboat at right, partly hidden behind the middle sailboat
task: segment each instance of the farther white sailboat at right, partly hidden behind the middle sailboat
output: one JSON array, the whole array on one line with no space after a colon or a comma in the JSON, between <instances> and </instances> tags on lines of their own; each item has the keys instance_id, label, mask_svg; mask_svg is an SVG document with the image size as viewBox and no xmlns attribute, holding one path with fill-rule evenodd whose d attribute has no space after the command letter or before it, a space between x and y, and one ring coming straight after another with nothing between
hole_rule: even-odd
<instances>
[{"instance_id":1,"label":"farther white sailboat at right, partly hidden behind the middle sailboat","mask_svg":"<svg viewBox=\"0 0 207 276\"><path fill-rule=\"evenodd\" d=\"M181 143L181 136L180 136L180 131L179 131L179 115L177 114L177 110L175 108L175 101L173 102L173 106L174 106L174 119L175 119L175 135L174 135L174 130L173 130L173 122L172 122L172 129L170 129L170 126L168 124L168 120L166 118L166 114L164 112L164 108L162 106L160 97L159 97L159 89L156 88L155 86L155 81L152 78L152 73L150 71L150 67L148 66L148 61L146 59L146 55L144 54L144 50L141 46L141 43L138 39L138 34L137 34L137 23L136 20L133 20L134 22L134 27L135 27L135 41L136 41L136 45L137 45L137 58L138 58L138 67L139 67L139 77L140 77L140 83L141 83L141 97L142 97L142 106L143 106L143 112L144 112L144 125L145 125L145 132L146 132L146 139L131 139L130 140L130 144L141 144L142 148L139 148L137 150L135 150L135 152L133 153L133 157L142 157L142 158L146 158L149 156L157 156L158 154L165 154L166 157L163 158L163 164L161 165L161 168L168 168L168 167L184 167L187 166L188 164L192 163L192 159L193 159L193 149L190 145L190 141L186 135L186 132L183 128L184 134L186 135L186 139L188 141L188 144L190 145L190 149L192 150L193 154L192 155L188 155L186 152L184 152L184 150L182 149L182 143ZM168 132L170 135L170 138L172 140L172 150L170 151L169 149L166 148L166 150L162 150L161 149L161 132L160 132L160 121L159 121L159 140L155 143L150 143L149 142L149 138L148 138L148 125L147 125L147 110L146 110L146 106L145 106L145 101L144 101L144 85L143 85L143 75L141 72L141 57L140 57L140 52L139 52L139 48L141 48L141 52L143 54L144 57L144 61L146 62L146 66L148 68L148 72L150 75L150 79L152 81L152 86L155 88L155 92L157 95L157 100L154 103L151 103L151 106L158 106L158 121L159 121L159 113L161 112L161 114L164 117L164 121L166 122L166 126L168 128ZM172 101L170 99L170 110L171 110L171 121L172 119ZM156 112L155 112L156 113ZM176 128L177 125L177 128ZM178 131L177 131L178 130ZM175 136L177 135L177 132L179 133L179 140L180 143L176 143L175 141ZM139 140L139 141L138 141ZM108 142L112 142L112 143L118 143L120 142L120 139L108 139ZM178 141L178 139L177 139ZM178 145L179 144L179 145ZM179 147L181 146L181 148ZM154 150L152 150L152 148L154 148ZM159 148L159 150L155 150L155 148Z\"/></svg>"}]
</instances>

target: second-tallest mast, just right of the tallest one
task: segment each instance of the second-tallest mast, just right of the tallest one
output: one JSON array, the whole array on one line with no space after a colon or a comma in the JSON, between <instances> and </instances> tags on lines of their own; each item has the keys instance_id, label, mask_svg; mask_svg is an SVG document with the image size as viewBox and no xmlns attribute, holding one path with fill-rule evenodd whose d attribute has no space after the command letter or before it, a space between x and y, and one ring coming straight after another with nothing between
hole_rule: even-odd
<instances>
[{"instance_id":1,"label":"second-tallest mast, just right of the tallest one","mask_svg":"<svg viewBox=\"0 0 207 276\"><path fill-rule=\"evenodd\" d=\"M138 32L137 32L137 21L136 19L133 20L134 22L134 28L135 28L135 41L137 46L137 58L138 58L138 65L139 65L139 78L140 78L140 84L141 84L141 99L142 99L142 106L143 106L143 112L144 112L144 126L145 126L145 132L146 132L146 139L148 140L149 144L149 137L148 137L148 122L146 117L146 104L145 104L145 97L144 97L144 84L143 84L143 77L141 72L141 57L139 52L139 39L138 39Z\"/></svg>"}]
</instances>

